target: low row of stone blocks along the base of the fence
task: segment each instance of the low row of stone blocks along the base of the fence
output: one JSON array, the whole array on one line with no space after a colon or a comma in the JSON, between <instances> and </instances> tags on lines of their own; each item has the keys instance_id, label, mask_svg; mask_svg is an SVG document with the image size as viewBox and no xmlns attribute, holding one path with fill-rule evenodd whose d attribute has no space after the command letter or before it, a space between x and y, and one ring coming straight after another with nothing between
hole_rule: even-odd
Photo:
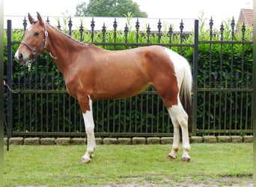
<instances>
[{"instance_id":1,"label":"low row of stone blocks along the base of the fence","mask_svg":"<svg viewBox=\"0 0 256 187\"><path fill-rule=\"evenodd\" d=\"M96 144L172 144L173 137L133 137L133 138L95 138ZM192 136L189 138L191 144L223 144L223 143L252 143L253 135L204 135ZM10 138L10 144L13 145L77 145L86 144L86 138ZM4 138L4 144L7 144L7 138Z\"/></svg>"}]
</instances>

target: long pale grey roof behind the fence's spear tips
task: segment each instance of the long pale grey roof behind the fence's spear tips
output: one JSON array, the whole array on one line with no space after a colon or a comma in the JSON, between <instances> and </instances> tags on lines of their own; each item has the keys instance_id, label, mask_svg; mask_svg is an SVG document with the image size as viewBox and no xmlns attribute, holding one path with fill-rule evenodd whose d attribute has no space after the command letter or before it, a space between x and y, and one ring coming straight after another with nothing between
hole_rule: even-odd
<instances>
[{"instance_id":1,"label":"long pale grey roof behind the fence's spear tips","mask_svg":"<svg viewBox=\"0 0 256 187\"><path fill-rule=\"evenodd\" d=\"M43 20L47 19L47 16L42 16ZM12 20L12 28L14 29L22 29L23 28L23 20L26 19L28 20L27 17L24 16L4 16L4 28L7 28L7 19L11 19ZM53 26L57 26L58 25L58 21L60 20L60 24L61 24L61 29L67 28L68 29L68 21L66 25L64 25L64 19L66 19L65 17L51 17L49 16L49 23L50 25ZM71 17L72 20L72 30L75 29L79 29L81 22L82 25L84 27L84 29L90 30L91 31L91 21L92 19L94 19L94 31L101 31L103 29L103 24L105 24L106 26L106 30L112 30L113 29L113 25L114 25L114 21L116 19L117 22L117 30L118 31L124 31L124 28L127 24L127 18L125 17L78 17L78 16L73 16ZM162 28L161 31L168 31L168 29L170 28L170 25L173 28L173 32L180 32L180 22L183 22L183 32L184 33L192 33L192 31L194 30L194 20L195 19L168 19L168 18L132 18L130 20L130 25L128 25L128 27L130 28L129 30L131 31L135 31L135 25L136 22L139 22L139 31L146 31L147 30L147 26L149 25L150 27L150 31L151 32L156 32L158 31L158 22L160 20L160 22L162 23ZM29 22L28 23L28 27L29 27Z\"/></svg>"}]
</instances>

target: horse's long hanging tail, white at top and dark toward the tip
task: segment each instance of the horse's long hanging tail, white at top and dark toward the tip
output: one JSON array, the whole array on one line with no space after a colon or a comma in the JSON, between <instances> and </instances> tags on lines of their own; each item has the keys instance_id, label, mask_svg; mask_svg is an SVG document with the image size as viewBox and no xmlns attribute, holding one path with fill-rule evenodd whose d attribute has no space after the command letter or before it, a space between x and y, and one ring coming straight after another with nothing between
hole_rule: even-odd
<instances>
[{"instance_id":1,"label":"horse's long hanging tail, white at top and dark toward the tip","mask_svg":"<svg viewBox=\"0 0 256 187\"><path fill-rule=\"evenodd\" d=\"M186 114L189 116L188 126L189 132L192 130L192 98L191 98L191 91L192 91L192 73L191 68L189 66L189 62L186 61L184 64L184 74L183 80L180 86L180 101L183 105Z\"/></svg>"}]
</instances>

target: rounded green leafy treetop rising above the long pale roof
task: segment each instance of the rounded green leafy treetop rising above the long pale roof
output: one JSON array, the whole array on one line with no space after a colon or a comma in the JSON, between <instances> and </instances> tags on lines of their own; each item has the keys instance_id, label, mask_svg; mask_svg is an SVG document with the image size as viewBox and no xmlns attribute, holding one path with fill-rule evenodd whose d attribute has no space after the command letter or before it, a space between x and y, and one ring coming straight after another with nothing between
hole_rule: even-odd
<instances>
[{"instance_id":1,"label":"rounded green leafy treetop rising above the long pale roof","mask_svg":"<svg viewBox=\"0 0 256 187\"><path fill-rule=\"evenodd\" d=\"M121 17L128 12L135 17L147 17L136 2L132 0L90 0L76 5L76 16L115 16Z\"/></svg>"}]
</instances>

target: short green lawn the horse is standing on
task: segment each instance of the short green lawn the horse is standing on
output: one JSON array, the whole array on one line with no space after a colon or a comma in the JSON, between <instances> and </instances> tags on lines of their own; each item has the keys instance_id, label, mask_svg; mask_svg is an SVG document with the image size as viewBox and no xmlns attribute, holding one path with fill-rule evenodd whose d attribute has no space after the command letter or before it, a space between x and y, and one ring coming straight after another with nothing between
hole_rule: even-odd
<instances>
[{"instance_id":1,"label":"short green lawn the horse is standing on","mask_svg":"<svg viewBox=\"0 0 256 187\"><path fill-rule=\"evenodd\" d=\"M11 145L9 151L4 147L4 186L207 185L223 177L232 180L221 185L232 185L252 180L252 144L192 144L189 163L166 159L170 149L170 145L97 145L92 162L79 164L84 145Z\"/></svg>"}]
</instances>

